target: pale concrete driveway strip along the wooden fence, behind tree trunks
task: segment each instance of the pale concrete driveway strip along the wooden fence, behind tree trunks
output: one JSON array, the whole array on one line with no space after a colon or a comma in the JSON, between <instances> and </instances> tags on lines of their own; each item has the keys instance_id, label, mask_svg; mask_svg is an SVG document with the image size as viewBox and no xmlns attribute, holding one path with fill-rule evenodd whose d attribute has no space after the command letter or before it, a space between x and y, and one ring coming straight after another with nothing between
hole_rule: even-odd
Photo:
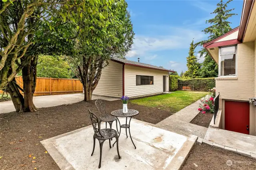
<instances>
[{"instance_id":1,"label":"pale concrete driveway strip along the wooden fence, behind tree trunks","mask_svg":"<svg viewBox=\"0 0 256 170\"><path fill-rule=\"evenodd\" d=\"M118 100L118 98L102 97L92 95L92 100L104 99L107 101ZM34 105L38 108L53 107L64 104L77 103L84 100L83 93L67 94L67 95L49 95L49 96L36 96L33 97ZM0 113L9 113L15 111L12 101L0 102Z\"/></svg>"}]
</instances>

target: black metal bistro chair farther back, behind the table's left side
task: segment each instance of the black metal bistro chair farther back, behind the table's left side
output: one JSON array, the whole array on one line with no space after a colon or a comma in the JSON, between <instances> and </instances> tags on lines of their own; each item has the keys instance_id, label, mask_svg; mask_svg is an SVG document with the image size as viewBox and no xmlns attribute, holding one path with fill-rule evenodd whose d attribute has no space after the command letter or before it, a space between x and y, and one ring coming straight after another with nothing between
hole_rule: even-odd
<instances>
[{"instance_id":1,"label":"black metal bistro chair farther back, behind the table's left side","mask_svg":"<svg viewBox=\"0 0 256 170\"><path fill-rule=\"evenodd\" d=\"M95 105L97 107L97 110L98 110L98 113L100 115L100 123L101 122L106 122L106 128L107 128L107 123L109 123L110 125L110 128L112 128L112 123L114 121L116 121L116 130L117 130L117 133L118 132L118 128L117 128L117 119L116 117L114 116L110 116L106 113L106 104L105 104L105 101L103 99L97 99L95 101Z\"/></svg>"}]
</instances>

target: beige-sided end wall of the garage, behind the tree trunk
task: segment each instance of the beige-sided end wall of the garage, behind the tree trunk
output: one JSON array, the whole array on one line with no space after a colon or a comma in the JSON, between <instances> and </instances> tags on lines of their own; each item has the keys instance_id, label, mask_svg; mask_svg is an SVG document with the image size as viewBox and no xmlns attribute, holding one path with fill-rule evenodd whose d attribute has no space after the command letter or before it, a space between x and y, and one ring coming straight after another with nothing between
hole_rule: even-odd
<instances>
[{"instance_id":1,"label":"beige-sided end wall of the garage, behind the tree trunk","mask_svg":"<svg viewBox=\"0 0 256 170\"><path fill-rule=\"evenodd\" d=\"M102 69L100 81L92 94L121 97L123 94L123 65L109 61L109 65Z\"/></svg>"}]
</instances>

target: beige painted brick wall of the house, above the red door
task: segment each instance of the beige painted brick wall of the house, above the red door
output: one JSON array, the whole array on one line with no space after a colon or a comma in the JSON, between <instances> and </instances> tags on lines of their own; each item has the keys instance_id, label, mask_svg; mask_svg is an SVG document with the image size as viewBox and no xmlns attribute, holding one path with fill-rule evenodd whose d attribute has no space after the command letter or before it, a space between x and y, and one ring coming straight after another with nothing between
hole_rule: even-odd
<instances>
[{"instance_id":1,"label":"beige painted brick wall of the house, above the red door","mask_svg":"<svg viewBox=\"0 0 256 170\"><path fill-rule=\"evenodd\" d=\"M216 79L216 93L220 92L220 107L221 99L248 101L249 97L254 97L256 93L254 47L254 42L238 44L236 80Z\"/></svg>"}]
</instances>

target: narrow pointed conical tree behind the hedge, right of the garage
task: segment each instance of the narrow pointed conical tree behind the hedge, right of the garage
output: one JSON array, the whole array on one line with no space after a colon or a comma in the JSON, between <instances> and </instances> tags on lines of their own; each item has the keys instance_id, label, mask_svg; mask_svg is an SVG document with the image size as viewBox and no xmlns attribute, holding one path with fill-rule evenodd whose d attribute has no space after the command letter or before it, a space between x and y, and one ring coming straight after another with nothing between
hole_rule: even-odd
<instances>
[{"instance_id":1,"label":"narrow pointed conical tree behind the hedge, right of the garage","mask_svg":"<svg viewBox=\"0 0 256 170\"><path fill-rule=\"evenodd\" d=\"M187 57L187 67L188 70L185 71L184 73L184 77L188 77L188 78L196 78L198 77L198 71L200 69L200 64L198 63L198 59L197 57L194 55L194 51L195 51L195 45L194 45L194 40L192 40L192 42L190 43L190 48L189 48L189 52L188 52L188 57Z\"/></svg>"}]
</instances>

